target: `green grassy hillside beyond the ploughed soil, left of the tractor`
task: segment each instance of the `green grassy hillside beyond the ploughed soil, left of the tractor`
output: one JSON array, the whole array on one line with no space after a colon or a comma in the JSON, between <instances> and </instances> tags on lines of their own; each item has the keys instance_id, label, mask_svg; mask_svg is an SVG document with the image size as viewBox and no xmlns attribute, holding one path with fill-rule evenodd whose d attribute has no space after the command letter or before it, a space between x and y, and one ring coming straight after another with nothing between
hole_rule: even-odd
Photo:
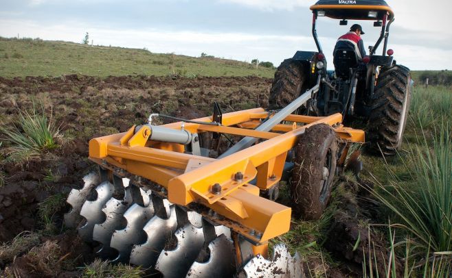
<instances>
[{"instance_id":1,"label":"green grassy hillside beyond the ploughed soil, left of the tractor","mask_svg":"<svg viewBox=\"0 0 452 278\"><path fill-rule=\"evenodd\" d=\"M200 53L201 54L201 53ZM144 49L97 47L73 42L0 38L0 76L98 77L181 75L273 77L274 69L219 58L156 54Z\"/></svg>"}]
</instances>

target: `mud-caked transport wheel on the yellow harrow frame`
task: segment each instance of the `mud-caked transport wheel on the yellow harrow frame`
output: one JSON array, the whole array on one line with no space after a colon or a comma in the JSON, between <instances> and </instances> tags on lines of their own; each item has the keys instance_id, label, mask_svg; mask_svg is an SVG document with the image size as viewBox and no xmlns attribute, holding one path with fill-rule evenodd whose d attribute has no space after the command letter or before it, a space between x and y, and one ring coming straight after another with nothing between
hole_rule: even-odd
<instances>
[{"instance_id":1,"label":"mud-caked transport wheel on the yellow harrow frame","mask_svg":"<svg viewBox=\"0 0 452 278\"><path fill-rule=\"evenodd\" d=\"M295 216L319 219L330 199L337 164L337 136L328 125L313 125L297 140L291 181Z\"/></svg>"}]
</instances>

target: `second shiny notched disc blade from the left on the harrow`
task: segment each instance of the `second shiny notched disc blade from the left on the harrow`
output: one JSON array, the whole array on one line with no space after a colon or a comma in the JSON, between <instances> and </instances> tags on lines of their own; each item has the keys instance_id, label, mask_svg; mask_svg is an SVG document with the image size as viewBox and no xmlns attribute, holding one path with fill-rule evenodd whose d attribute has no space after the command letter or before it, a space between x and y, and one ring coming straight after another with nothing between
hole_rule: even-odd
<instances>
[{"instance_id":1,"label":"second shiny notched disc blade from the left on the harrow","mask_svg":"<svg viewBox=\"0 0 452 278\"><path fill-rule=\"evenodd\" d=\"M104 181L95 188L98 198L95 201L86 201L80 210L80 215L87 219L87 223L78 229L80 238L86 241L93 240L94 225L104 222L105 214L102 207L113 196L114 186L109 181Z\"/></svg>"}]
</instances>

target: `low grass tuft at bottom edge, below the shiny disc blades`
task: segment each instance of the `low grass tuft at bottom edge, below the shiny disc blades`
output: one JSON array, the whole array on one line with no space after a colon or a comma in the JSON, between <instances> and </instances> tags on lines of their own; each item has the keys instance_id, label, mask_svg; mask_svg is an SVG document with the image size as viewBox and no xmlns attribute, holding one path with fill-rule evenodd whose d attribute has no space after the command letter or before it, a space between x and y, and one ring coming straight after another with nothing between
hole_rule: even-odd
<instances>
[{"instance_id":1,"label":"low grass tuft at bottom edge, below the shiny disc blades","mask_svg":"<svg viewBox=\"0 0 452 278\"><path fill-rule=\"evenodd\" d=\"M95 259L94 262L84 267L83 278L139 278L144 275L144 270L139 267L126 264L110 264L109 261Z\"/></svg>"}]
</instances>

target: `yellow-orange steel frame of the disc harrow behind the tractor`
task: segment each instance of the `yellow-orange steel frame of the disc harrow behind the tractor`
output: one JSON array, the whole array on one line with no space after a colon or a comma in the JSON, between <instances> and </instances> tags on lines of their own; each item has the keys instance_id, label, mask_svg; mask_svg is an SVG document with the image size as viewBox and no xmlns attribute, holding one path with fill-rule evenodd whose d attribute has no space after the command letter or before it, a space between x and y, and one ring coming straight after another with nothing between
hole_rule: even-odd
<instances>
[{"instance_id":1,"label":"yellow-orange steel frame of the disc harrow behind the tractor","mask_svg":"<svg viewBox=\"0 0 452 278\"><path fill-rule=\"evenodd\" d=\"M146 125L136 133L133 126L122 134L92 139L89 158L116 175L124 175L124 170L134 175L135 184L165 188L159 194L168 197L171 203L189 208L194 203L202 204L210 209L210 212L199 210L203 216L260 244L289 231L291 208L264 199L259 193L280 181L287 152L306 128L324 123L332 126L343 140L364 142L364 131L343 127L341 114L289 115L284 121L292 124L277 125L271 132L250 129L268 116L268 112L256 108L223 114L222 126L185 123L185 129L192 134L212 131L265 140L221 159L184 153L185 147L180 144L152 142L148 140L151 130ZM212 117L196 121L212 122ZM181 123L163 127L181 129ZM243 175L241 181L234 179L238 172ZM256 186L249 184L256 177ZM221 185L219 194L212 194L214 184Z\"/></svg>"}]
</instances>

